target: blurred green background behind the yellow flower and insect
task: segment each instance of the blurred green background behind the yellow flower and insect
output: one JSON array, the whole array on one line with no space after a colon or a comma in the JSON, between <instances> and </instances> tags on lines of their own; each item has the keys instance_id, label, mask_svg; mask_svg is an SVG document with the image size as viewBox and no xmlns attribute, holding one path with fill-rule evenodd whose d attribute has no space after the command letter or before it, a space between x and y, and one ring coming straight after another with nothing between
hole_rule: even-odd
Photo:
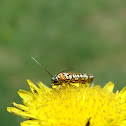
<instances>
[{"instance_id":1,"label":"blurred green background behind the yellow flower and insect","mask_svg":"<svg viewBox=\"0 0 126 126\"><path fill-rule=\"evenodd\" d=\"M0 119L1 126L23 121L6 112L21 103L26 79L50 85L52 75L91 73L102 87L126 85L125 0L0 0Z\"/></svg>"}]
</instances>

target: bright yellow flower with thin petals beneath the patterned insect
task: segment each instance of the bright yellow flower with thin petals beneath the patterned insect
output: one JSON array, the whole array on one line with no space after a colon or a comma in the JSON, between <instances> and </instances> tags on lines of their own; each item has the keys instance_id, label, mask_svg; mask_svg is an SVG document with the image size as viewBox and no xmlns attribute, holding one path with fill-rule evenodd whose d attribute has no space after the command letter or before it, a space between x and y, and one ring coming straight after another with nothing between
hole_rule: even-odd
<instances>
[{"instance_id":1,"label":"bright yellow flower with thin petals beneath the patterned insect","mask_svg":"<svg viewBox=\"0 0 126 126\"><path fill-rule=\"evenodd\" d=\"M64 84L60 90L27 82L30 91L18 92L24 105L7 108L27 119L21 126L126 126L126 87L114 93L112 82L104 88Z\"/></svg>"}]
</instances>

